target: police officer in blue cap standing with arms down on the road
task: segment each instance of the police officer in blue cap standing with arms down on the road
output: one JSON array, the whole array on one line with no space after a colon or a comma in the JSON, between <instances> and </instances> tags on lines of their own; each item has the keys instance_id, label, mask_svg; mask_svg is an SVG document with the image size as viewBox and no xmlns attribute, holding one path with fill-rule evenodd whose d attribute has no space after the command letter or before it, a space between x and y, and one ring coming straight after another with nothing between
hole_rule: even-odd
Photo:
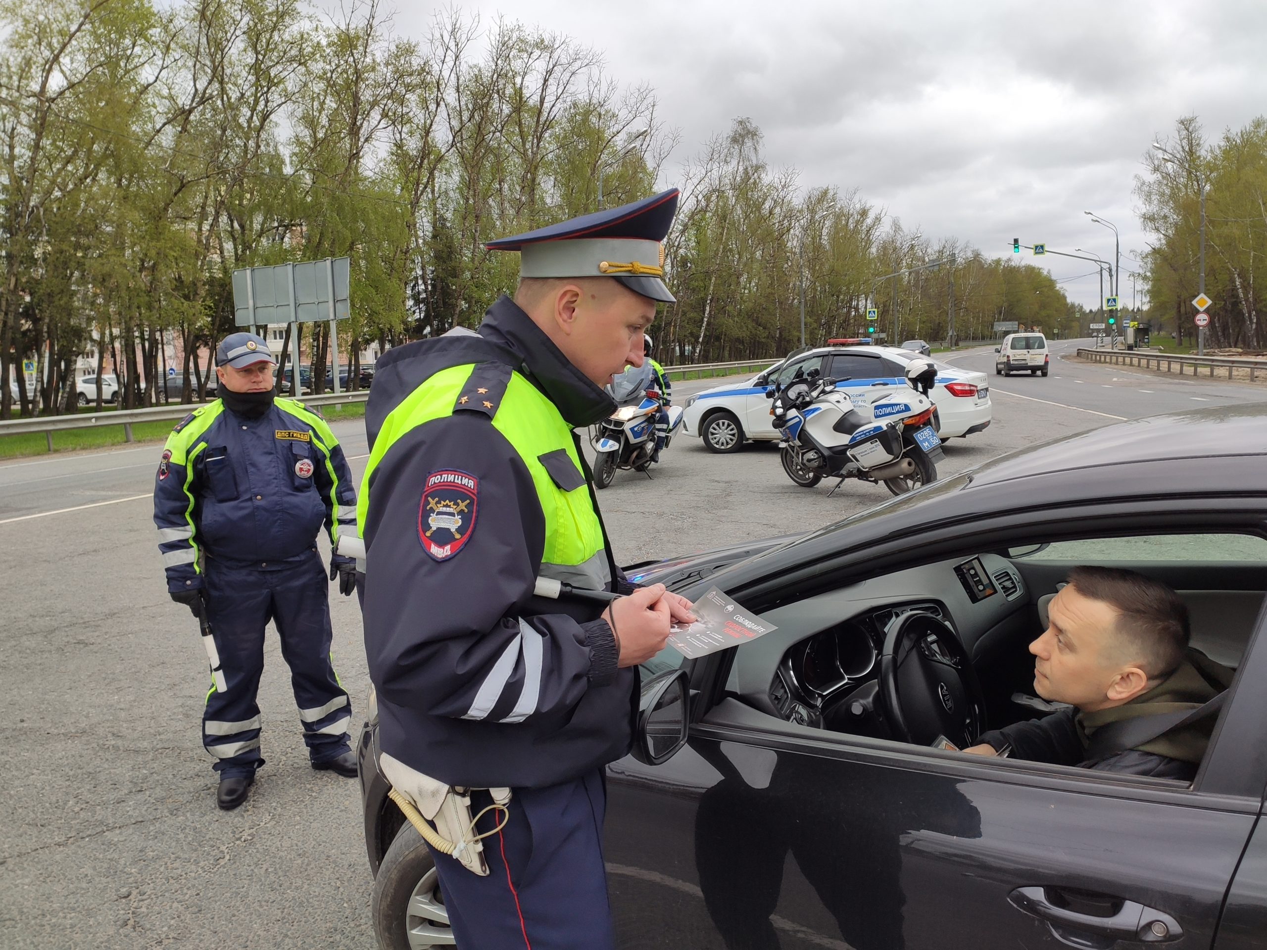
<instances>
[{"instance_id":1,"label":"police officer in blue cap standing with arms down on the road","mask_svg":"<svg viewBox=\"0 0 1267 950\"><path fill-rule=\"evenodd\" d=\"M219 807L237 808L264 765L256 690L270 619L312 766L356 775L352 708L331 660L328 583L315 543L323 522L336 551L341 536L356 535L356 493L326 421L276 398L264 339L233 333L215 361L220 398L181 419L163 447L155 524L171 598L204 622L204 636L210 627L203 745L219 773ZM351 594L355 560L336 554L336 576Z\"/></svg>"}]
</instances>

